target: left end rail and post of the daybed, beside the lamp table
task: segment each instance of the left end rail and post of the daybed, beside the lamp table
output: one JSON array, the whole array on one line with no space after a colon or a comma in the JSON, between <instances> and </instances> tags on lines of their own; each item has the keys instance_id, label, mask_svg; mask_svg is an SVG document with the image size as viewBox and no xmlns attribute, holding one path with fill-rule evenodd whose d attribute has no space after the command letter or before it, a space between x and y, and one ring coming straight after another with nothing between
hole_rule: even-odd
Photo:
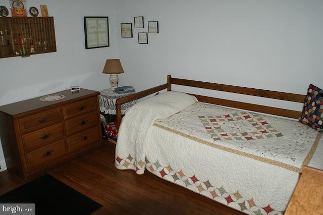
<instances>
[{"instance_id":1,"label":"left end rail and post of the daybed, beside the lamp table","mask_svg":"<svg viewBox=\"0 0 323 215\"><path fill-rule=\"evenodd\" d=\"M116 101L116 114L117 114L117 122L116 122L117 125L116 126L117 126L117 128L119 128L121 120L122 120L121 104L123 104L123 103L125 103L127 101L132 101L132 100L135 100L135 99L145 97L147 95L150 95L152 93L158 92L158 91L163 90L163 89L167 89L168 86L169 86L168 84L162 84L162 85L152 87L152 88L140 91L140 92L133 93L131 95L127 95L125 97L118 98L117 101Z\"/></svg>"}]
</instances>

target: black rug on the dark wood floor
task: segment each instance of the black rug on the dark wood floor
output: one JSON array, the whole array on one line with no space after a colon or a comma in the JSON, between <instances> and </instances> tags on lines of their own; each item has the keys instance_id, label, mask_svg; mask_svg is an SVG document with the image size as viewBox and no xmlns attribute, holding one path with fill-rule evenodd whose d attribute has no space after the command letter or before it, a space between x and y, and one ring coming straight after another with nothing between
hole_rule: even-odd
<instances>
[{"instance_id":1,"label":"black rug on the dark wood floor","mask_svg":"<svg viewBox=\"0 0 323 215\"><path fill-rule=\"evenodd\" d=\"M102 206L50 175L3 194L0 196L1 203L34 203L35 214L85 215Z\"/></svg>"}]
</instances>

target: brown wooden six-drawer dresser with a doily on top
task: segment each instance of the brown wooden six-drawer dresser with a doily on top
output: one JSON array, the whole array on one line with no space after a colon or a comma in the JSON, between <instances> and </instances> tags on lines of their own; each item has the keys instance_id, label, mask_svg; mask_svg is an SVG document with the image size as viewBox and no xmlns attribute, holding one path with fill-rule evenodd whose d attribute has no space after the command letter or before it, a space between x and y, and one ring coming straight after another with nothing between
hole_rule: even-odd
<instances>
[{"instance_id":1,"label":"brown wooden six-drawer dresser with a doily on top","mask_svg":"<svg viewBox=\"0 0 323 215\"><path fill-rule=\"evenodd\" d=\"M55 96L52 96L55 95ZM80 89L0 106L7 168L29 180L102 144L99 92Z\"/></svg>"}]
</instances>

